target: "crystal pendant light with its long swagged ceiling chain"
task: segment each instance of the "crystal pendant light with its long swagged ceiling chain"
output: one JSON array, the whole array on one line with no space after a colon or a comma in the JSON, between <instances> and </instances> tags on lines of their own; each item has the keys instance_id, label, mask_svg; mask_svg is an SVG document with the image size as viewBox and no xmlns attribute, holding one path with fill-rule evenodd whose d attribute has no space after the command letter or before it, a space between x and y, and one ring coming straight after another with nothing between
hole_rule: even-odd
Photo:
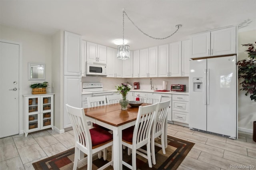
<instances>
[{"instance_id":1,"label":"crystal pendant light with its long swagged ceiling chain","mask_svg":"<svg viewBox=\"0 0 256 170\"><path fill-rule=\"evenodd\" d=\"M164 38L155 38L152 37L148 34L146 34L145 32L143 32L140 28L138 28L138 26L136 26L134 24L134 22L128 17L128 15L126 14L126 12L123 9L123 44L122 45L118 45L117 46L117 58L119 59L129 59L130 58L130 46L129 45L125 45L124 44L124 14L127 16L128 20L130 20L130 22L132 22L132 24L140 31L142 32L145 36L148 36L150 38L153 38L155 40L164 40L166 38L169 38L170 36L172 36L173 34L175 34L181 27L182 25L176 25L175 27L177 28L176 31L174 33L172 33L170 36L164 37Z\"/></svg>"}]
</instances>

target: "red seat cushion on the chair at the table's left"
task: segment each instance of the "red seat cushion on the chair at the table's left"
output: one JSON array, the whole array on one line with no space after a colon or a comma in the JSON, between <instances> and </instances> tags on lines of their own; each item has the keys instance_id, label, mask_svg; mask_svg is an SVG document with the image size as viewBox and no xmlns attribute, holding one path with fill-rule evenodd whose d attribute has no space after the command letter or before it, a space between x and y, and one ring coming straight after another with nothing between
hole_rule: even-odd
<instances>
[{"instance_id":1,"label":"red seat cushion on the chair at the table's left","mask_svg":"<svg viewBox=\"0 0 256 170\"><path fill-rule=\"evenodd\" d=\"M92 146L96 144L101 144L113 139L113 134L103 130L102 128L91 128L90 134L92 138Z\"/></svg>"}]
</instances>

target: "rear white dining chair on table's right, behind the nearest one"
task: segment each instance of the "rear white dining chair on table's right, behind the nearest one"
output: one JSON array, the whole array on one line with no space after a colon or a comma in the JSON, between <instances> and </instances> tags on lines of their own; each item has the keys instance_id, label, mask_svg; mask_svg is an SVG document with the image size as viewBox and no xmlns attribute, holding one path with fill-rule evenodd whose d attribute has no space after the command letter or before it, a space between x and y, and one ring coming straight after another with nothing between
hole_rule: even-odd
<instances>
[{"instance_id":1,"label":"rear white dining chair on table's right, behind the nearest one","mask_svg":"<svg viewBox=\"0 0 256 170\"><path fill-rule=\"evenodd\" d=\"M167 138L167 136L164 136L164 126L166 126L165 123L170 107L170 102L170 100L160 102L158 103L156 108L156 116L154 117L154 123L151 130L151 152L153 164L156 164L155 145L162 147L163 154L166 154L164 140ZM155 138L157 138L158 136L161 136L161 144L155 143Z\"/></svg>"}]
</instances>

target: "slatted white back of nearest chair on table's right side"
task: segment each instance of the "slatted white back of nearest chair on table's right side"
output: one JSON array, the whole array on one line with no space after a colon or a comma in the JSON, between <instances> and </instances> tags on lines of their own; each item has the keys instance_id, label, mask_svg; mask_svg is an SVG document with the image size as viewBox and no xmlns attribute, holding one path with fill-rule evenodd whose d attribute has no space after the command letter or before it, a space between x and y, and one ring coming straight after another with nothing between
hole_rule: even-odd
<instances>
[{"instance_id":1,"label":"slatted white back of nearest chair on table's right side","mask_svg":"<svg viewBox=\"0 0 256 170\"><path fill-rule=\"evenodd\" d=\"M137 145L140 143L143 144L150 139L150 132L154 121L156 107L157 103L139 107L132 141Z\"/></svg>"}]
</instances>

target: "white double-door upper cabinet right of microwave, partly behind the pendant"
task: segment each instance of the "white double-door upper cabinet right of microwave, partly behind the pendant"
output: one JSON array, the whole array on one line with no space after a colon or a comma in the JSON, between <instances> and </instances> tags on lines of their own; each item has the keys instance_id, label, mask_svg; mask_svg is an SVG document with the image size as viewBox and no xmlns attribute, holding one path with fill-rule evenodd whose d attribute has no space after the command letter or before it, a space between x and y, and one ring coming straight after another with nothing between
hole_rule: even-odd
<instances>
[{"instance_id":1,"label":"white double-door upper cabinet right of microwave, partly behind the pendant","mask_svg":"<svg viewBox=\"0 0 256 170\"><path fill-rule=\"evenodd\" d=\"M122 77L122 59L116 56L116 49L107 47L107 77Z\"/></svg>"}]
</instances>

